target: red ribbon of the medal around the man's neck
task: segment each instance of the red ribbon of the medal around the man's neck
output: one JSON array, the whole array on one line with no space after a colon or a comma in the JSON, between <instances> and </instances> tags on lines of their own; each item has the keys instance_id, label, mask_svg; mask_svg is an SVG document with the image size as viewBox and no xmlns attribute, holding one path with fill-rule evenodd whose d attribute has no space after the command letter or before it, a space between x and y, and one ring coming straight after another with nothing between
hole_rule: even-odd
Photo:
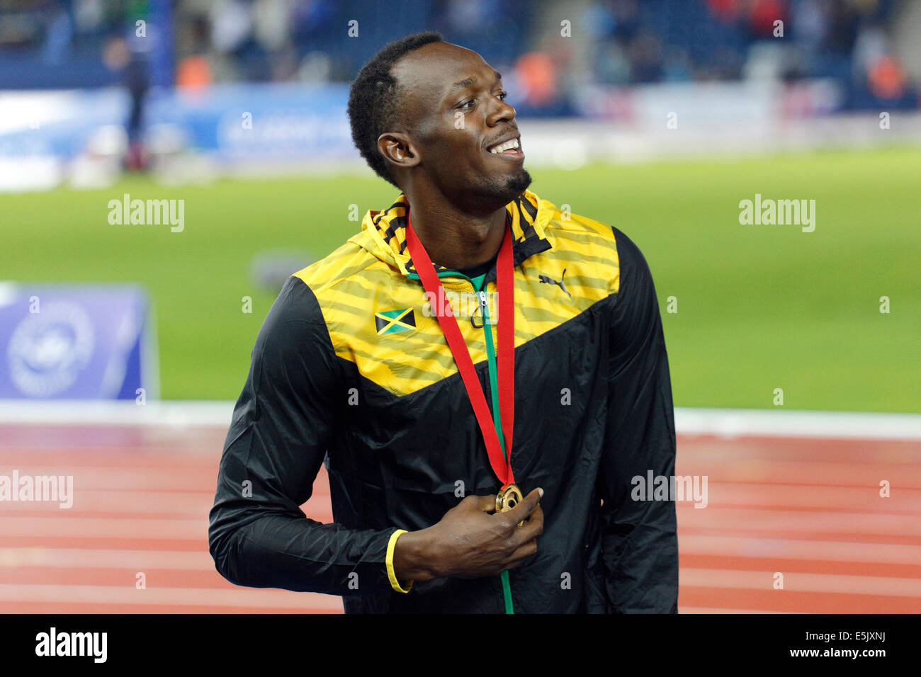
<instances>
[{"instance_id":1,"label":"red ribbon of the medal around the man's neck","mask_svg":"<svg viewBox=\"0 0 921 677\"><path fill-rule=\"evenodd\" d=\"M435 272L435 266L432 265L426 248L419 241L413 230L413 222L409 217L409 207L406 208L406 219L406 246L409 248L415 269L419 273L426 292L429 292L431 298L437 299L438 307L435 309L435 313L438 322L441 324L441 331L445 333L445 338L448 339L448 346L454 356L458 371L461 372L461 379L463 379L464 388L467 389L467 396L470 398L473 413L476 414L476 420L480 424L480 430L483 432L490 465L493 466L495 476L499 478L499 481L502 482L502 488L505 489L508 484L515 483L515 475L512 473L511 465L512 427L515 422L515 286L513 282L511 224L508 223L508 218L506 217L506 235L505 239L502 240L502 247L499 249L498 258L495 261L498 291L496 312L499 324L498 346L496 347L496 353L498 354L498 399L502 433L506 442L506 454L503 457L499 436L495 433L495 425L489 414L489 407L486 406L483 387L476 377L473 360L467 344L463 340L461 328L454 317L448 298L445 297L441 281ZM487 326L486 331L491 332L492 328Z\"/></svg>"}]
</instances>

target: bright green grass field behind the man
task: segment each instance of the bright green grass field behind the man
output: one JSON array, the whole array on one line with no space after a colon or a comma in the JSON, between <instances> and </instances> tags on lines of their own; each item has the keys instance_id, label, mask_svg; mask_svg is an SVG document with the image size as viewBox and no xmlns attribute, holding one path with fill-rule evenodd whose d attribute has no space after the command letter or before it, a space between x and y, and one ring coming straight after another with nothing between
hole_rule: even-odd
<instances>
[{"instance_id":1,"label":"bright green grass field behind the man","mask_svg":"<svg viewBox=\"0 0 921 677\"><path fill-rule=\"evenodd\" d=\"M531 190L621 228L655 276L681 406L921 409L921 226L916 149L532 170ZM185 229L111 226L108 202L182 198ZM816 228L742 226L739 202L814 199ZM0 278L138 282L157 312L161 395L235 399L274 294L251 256L318 258L360 224L348 205L398 194L351 176L0 196ZM252 313L241 311L251 296ZM677 298L678 312L666 312ZM880 297L891 312L880 313Z\"/></svg>"}]
</instances>

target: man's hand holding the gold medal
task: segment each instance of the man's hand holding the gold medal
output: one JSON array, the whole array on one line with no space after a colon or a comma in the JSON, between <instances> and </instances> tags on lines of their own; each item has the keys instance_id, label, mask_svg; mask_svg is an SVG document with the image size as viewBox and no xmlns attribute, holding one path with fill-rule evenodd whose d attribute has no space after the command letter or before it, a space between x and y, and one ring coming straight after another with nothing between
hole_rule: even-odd
<instances>
[{"instance_id":1,"label":"man's hand holding the gold medal","mask_svg":"<svg viewBox=\"0 0 921 677\"><path fill-rule=\"evenodd\" d=\"M397 578L479 578L521 566L543 533L541 495L534 489L502 513L495 512L495 495L467 496L437 524L400 536L393 555Z\"/></svg>"}]
</instances>

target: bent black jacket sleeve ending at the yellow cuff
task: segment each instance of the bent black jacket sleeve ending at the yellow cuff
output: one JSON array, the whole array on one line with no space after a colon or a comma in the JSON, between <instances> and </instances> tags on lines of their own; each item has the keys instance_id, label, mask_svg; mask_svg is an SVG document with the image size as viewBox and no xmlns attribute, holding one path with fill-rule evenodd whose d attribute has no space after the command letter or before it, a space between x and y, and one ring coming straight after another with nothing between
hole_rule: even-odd
<instances>
[{"instance_id":1,"label":"bent black jacket sleeve ending at the yellow cuff","mask_svg":"<svg viewBox=\"0 0 921 677\"><path fill-rule=\"evenodd\" d=\"M210 512L209 550L232 583L337 595L391 589L385 558L395 527L349 530L299 508L347 397L337 360L317 298L288 278L256 339Z\"/></svg>"}]
</instances>

